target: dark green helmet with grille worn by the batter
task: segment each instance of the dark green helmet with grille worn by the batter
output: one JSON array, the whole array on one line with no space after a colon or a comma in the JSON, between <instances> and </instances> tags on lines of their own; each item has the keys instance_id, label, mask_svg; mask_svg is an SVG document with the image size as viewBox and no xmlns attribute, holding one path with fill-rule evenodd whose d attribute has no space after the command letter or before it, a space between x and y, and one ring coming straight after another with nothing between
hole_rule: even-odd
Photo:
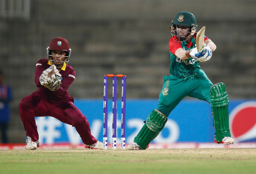
<instances>
[{"instance_id":1,"label":"dark green helmet with grille worn by the batter","mask_svg":"<svg viewBox=\"0 0 256 174\"><path fill-rule=\"evenodd\" d=\"M172 36L177 36L176 26L190 27L191 28L190 36L194 35L197 27L195 15L193 15L188 11L180 11L180 13L178 13L175 16L174 20L172 20L171 22L170 30L171 30Z\"/></svg>"}]
</instances>

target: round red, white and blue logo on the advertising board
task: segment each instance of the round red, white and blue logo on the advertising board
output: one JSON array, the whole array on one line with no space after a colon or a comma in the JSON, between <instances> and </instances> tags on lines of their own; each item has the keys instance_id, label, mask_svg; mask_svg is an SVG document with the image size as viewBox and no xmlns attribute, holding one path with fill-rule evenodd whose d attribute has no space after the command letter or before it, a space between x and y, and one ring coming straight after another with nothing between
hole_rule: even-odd
<instances>
[{"instance_id":1,"label":"round red, white and blue logo on the advertising board","mask_svg":"<svg viewBox=\"0 0 256 174\"><path fill-rule=\"evenodd\" d=\"M244 102L230 113L230 134L236 142L256 141L256 102Z\"/></svg>"}]
</instances>

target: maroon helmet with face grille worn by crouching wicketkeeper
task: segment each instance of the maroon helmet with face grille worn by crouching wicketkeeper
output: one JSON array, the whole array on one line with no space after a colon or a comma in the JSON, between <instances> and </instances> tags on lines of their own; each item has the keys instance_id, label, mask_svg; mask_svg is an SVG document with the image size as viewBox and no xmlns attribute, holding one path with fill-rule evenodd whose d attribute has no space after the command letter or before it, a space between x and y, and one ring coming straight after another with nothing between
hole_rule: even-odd
<instances>
[{"instance_id":1,"label":"maroon helmet with face grille worn by crouching wicketkeeper","mask_svg":"<svg viewBox=\"0 0 256 174\"><path fill-rule=\"evenodd\" d=\"M52 60L51 51L65 51L66 56L63 62L66 64L69 61L69 57L71 55L71 48L69 47L68 40L65 38L53 38L51 43L49 44L49 47L47 47L47 56L49 61Z\"/></svg>"}]
</instances>

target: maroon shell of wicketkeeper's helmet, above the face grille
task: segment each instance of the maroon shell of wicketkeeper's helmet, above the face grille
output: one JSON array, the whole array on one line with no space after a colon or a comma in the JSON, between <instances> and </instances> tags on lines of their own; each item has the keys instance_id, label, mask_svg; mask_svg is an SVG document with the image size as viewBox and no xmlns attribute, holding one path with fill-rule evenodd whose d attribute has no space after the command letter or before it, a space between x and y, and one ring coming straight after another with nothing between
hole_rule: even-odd
<instances>
[{"instance_id":1,"label":"maroon shell of wicketkeeper's helmet, above the face grille","mask_svg":"<svg viewBox=\"0 0 256 174\"><path fill-rule=\"evenodd\" d=\"M65 38L53 38L49 50L69 51L68 40Z\"/></svg>"}]
</instances>

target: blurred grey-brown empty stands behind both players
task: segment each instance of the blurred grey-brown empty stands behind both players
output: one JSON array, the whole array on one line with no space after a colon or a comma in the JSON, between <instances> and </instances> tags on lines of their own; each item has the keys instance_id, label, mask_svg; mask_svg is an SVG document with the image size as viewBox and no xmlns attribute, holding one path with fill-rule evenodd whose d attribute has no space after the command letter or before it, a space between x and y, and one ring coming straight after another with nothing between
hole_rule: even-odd
<instances>
[{"instance_id":1,"label":"blurred grey-brown empty stands behind both players","mask_svg":"<svg viewBox=\"0 0 256 174\"><path fill-rule=\"evenodd\" d=\"M224 82L231 100L256 98L256 1L28 2L27 17L1 11L0 18L0 68L14 93L11 142L24 142L18 104L36 90L35 64L46 57L52 38L71 45L73 97L101 99L103 76L113 73L127 75L127 98L158 98L169 74L168 27L179 11L193 13L197 31L206 26L205 35L217 45L212 59L201 63L213 84Z\"/></svg>"}]
</instances>

